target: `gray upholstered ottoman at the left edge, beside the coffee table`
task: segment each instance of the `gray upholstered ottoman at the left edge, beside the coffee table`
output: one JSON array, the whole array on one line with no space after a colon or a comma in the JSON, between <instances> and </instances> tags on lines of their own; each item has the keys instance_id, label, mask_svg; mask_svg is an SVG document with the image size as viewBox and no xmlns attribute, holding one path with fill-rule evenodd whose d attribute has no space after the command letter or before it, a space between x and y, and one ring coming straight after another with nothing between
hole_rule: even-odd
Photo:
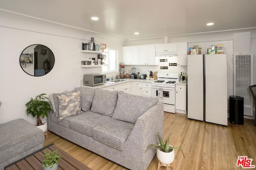
<instances>
[{"instance_id":1,"label":"gray upholstered ottoman at the left edge, beside the coffee table","mask_svg":"<svg viewBox=\"0 0 256 170\"><path fill-rule=\"evenodd\" d=\"M0 125L0 170L44 147L44 132L24 119Z\"/></svg>"}]
</instances>

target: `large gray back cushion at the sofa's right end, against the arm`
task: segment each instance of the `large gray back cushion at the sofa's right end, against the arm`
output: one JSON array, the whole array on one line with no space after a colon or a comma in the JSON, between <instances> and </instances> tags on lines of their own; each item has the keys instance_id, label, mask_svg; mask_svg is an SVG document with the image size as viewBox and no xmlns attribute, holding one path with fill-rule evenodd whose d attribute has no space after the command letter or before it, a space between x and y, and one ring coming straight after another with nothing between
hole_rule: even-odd
<instances>
[{"instance_id":1,"label":"large gray back cushion at the sofa's right end, against the arm","mask_svg":"<svg viewBox=\"0 0 256 170\"><path fill-rule=\"evenodd\" d=\"M159 101L158 98L136 96L118 91L114 119L136 123L138 117Z\"/></svg>"}]
</instances>

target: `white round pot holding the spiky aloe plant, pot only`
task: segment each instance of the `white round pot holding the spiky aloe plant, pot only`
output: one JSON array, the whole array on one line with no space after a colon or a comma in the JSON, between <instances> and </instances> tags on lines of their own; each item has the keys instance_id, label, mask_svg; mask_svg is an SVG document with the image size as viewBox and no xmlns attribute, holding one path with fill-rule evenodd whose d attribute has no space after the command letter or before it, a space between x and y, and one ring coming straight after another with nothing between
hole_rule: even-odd
<instances>
[{"instance_id":1,"label":"white round pot holding the spiky aloe plant, pot only","mask_svg":"<svg viewBox=\"0 0 256 170\"><path fill-rule=\"evenodd\" d=\"M170 145L170 147L172 146ZM156 156L163 166L169 166L174 161L174 149L172 152L162 152L157 149Z\"/></svg>"}]
</instances>

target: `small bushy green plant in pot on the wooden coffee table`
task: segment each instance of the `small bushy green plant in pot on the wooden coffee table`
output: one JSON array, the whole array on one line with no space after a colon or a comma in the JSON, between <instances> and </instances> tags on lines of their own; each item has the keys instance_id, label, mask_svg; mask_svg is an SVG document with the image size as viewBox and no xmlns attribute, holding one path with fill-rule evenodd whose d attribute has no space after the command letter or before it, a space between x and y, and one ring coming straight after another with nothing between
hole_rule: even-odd
<instances>
[{"instance_id":1,"label":"small bushy green plant in pot on the wooden coffee table","mask_svg":"<svg viewBox=\"0 0 256 170\"><path fill-rule=\"evenodd\" d=\"M58 150L44 150L43 170L57 170L60 161Z\"/></svg>"}]
</instances>

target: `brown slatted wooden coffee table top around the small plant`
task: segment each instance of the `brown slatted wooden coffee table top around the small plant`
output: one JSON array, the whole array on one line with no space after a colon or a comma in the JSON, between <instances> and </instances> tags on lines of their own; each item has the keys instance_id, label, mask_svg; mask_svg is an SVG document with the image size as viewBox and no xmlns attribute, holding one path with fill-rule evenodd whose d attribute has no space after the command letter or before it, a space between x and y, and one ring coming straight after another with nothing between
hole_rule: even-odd
<instances>
[{"instance_id":1,"label":"brown slatted wooden coffee table top around the small plant","mask_svg":"<svg viewBox=\"0 0 256 170\"><path fill-rule=\"evenodd\" d=\"M44 150L58 150L61 155L58 170L91 170L53 143L4 167L5 170L42 170L42 160L44 160Z\"/></svg>"}]
</instances>

